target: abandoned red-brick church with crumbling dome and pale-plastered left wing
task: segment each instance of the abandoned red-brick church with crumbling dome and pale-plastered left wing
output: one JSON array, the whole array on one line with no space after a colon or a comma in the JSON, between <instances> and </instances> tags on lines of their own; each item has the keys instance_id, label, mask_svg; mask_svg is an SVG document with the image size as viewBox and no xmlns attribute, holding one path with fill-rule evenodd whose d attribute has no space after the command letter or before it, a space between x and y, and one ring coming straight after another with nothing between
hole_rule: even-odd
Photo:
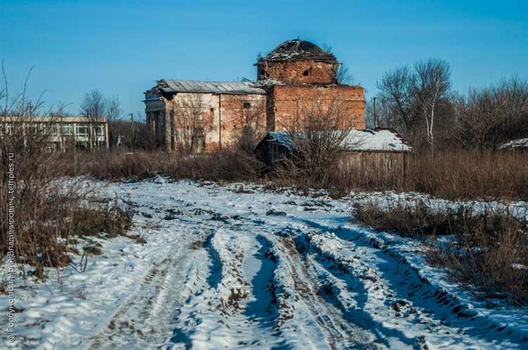
<instances>
[{"instance_id":1,"label":"abandoned red-brick church with crumbling dome and pale-plastered left wing","mask_svg":"<svg viewBox=\"0 0 528 350\"><path fill-rule=\"evenodd\" d=\"M250 117L260 131L279 131L307 105L335 100L342 102L356 129L365 128L364 90L338 84L339 63L332 53L294 39L255 65L255 82L158 80L144 100L153 143L170 152L177 150L182 138L191 138L194 150L215 150L230 145Z\"/></svg>"}]
</instances>

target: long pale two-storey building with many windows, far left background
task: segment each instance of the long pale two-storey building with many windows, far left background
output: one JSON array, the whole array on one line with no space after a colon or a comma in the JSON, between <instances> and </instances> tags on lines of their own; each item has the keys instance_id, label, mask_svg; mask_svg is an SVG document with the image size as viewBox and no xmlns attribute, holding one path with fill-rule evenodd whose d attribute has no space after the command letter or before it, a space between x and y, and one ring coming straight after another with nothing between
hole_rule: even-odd
<instances>
[{"instance_id":1,"label":"long pale two-storey building with many windows, far left background","mask_svg":"<svg viewBox=\"0 0 528 350\"><path fill-rule=\"evenodd\" d=\"M88 117L0 117L0 137L20 135L45 136L50 150L70 147L93 149L108 148L108 122L106 118Z\"/></svg>"}]
</instances>

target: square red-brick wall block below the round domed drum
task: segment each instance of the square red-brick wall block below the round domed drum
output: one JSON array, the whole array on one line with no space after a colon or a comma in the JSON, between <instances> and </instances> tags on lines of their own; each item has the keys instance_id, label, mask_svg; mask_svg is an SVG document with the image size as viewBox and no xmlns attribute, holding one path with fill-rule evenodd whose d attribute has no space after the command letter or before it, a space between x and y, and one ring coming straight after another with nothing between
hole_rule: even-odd
<instances>
[{"instance_id":1,"label":"square red-brick wall block below the round domed drum","mask_svg":"<svg viewBox=\"0 0 528 350\"><path fill-rule=\"evenodd\" d=\"M268 93L268 129L284 129L288 120L301 114L313 103L344 103L345 114L356 129L365 129L365 94L360 86L287 86L276 85Z\"/></svg>"}]
</instances>

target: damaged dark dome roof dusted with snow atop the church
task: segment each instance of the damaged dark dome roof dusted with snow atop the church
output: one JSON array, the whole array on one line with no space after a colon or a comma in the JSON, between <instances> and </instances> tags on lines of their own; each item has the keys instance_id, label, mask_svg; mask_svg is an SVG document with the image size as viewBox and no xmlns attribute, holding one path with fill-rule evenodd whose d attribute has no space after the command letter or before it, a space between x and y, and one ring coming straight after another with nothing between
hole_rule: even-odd
<instances>
[{"instance_id":1,"label":"damaged dark dome roof dusted with snow atop the church","mask_svg":"<svg viewBox=\"0 0 528 350\"><path fill-rule=\"evenodd\" d=\"M323 51L319 46L300 39L284 41L275 50L260 60L323 60L337 62L332 53Z\"/></svg>"}]
</instances>

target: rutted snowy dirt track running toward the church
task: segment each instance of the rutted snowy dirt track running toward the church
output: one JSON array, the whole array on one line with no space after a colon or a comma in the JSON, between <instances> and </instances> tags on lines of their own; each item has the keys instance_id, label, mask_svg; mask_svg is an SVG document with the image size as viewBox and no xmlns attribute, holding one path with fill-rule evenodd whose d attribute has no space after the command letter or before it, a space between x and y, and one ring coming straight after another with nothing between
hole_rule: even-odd
<instances>
[{"instance_id":1,"label":"rutted snowy dirt track running toward the church","mask_svg":"<svg viewBox=\"0 0 528 350\"><path fill-rule=\"evenodd\" d=\"M341 217L332 205L312 201L308 216L300 209L306 205L293 201L271 205L215 186L190 188L196 193L161 204L153 197L138 207L177 223L179 239L89 349L498 344L480 318L466 316L455 298L434 290L387 247L310 219Z\"/></svg>"}]
</instances>

